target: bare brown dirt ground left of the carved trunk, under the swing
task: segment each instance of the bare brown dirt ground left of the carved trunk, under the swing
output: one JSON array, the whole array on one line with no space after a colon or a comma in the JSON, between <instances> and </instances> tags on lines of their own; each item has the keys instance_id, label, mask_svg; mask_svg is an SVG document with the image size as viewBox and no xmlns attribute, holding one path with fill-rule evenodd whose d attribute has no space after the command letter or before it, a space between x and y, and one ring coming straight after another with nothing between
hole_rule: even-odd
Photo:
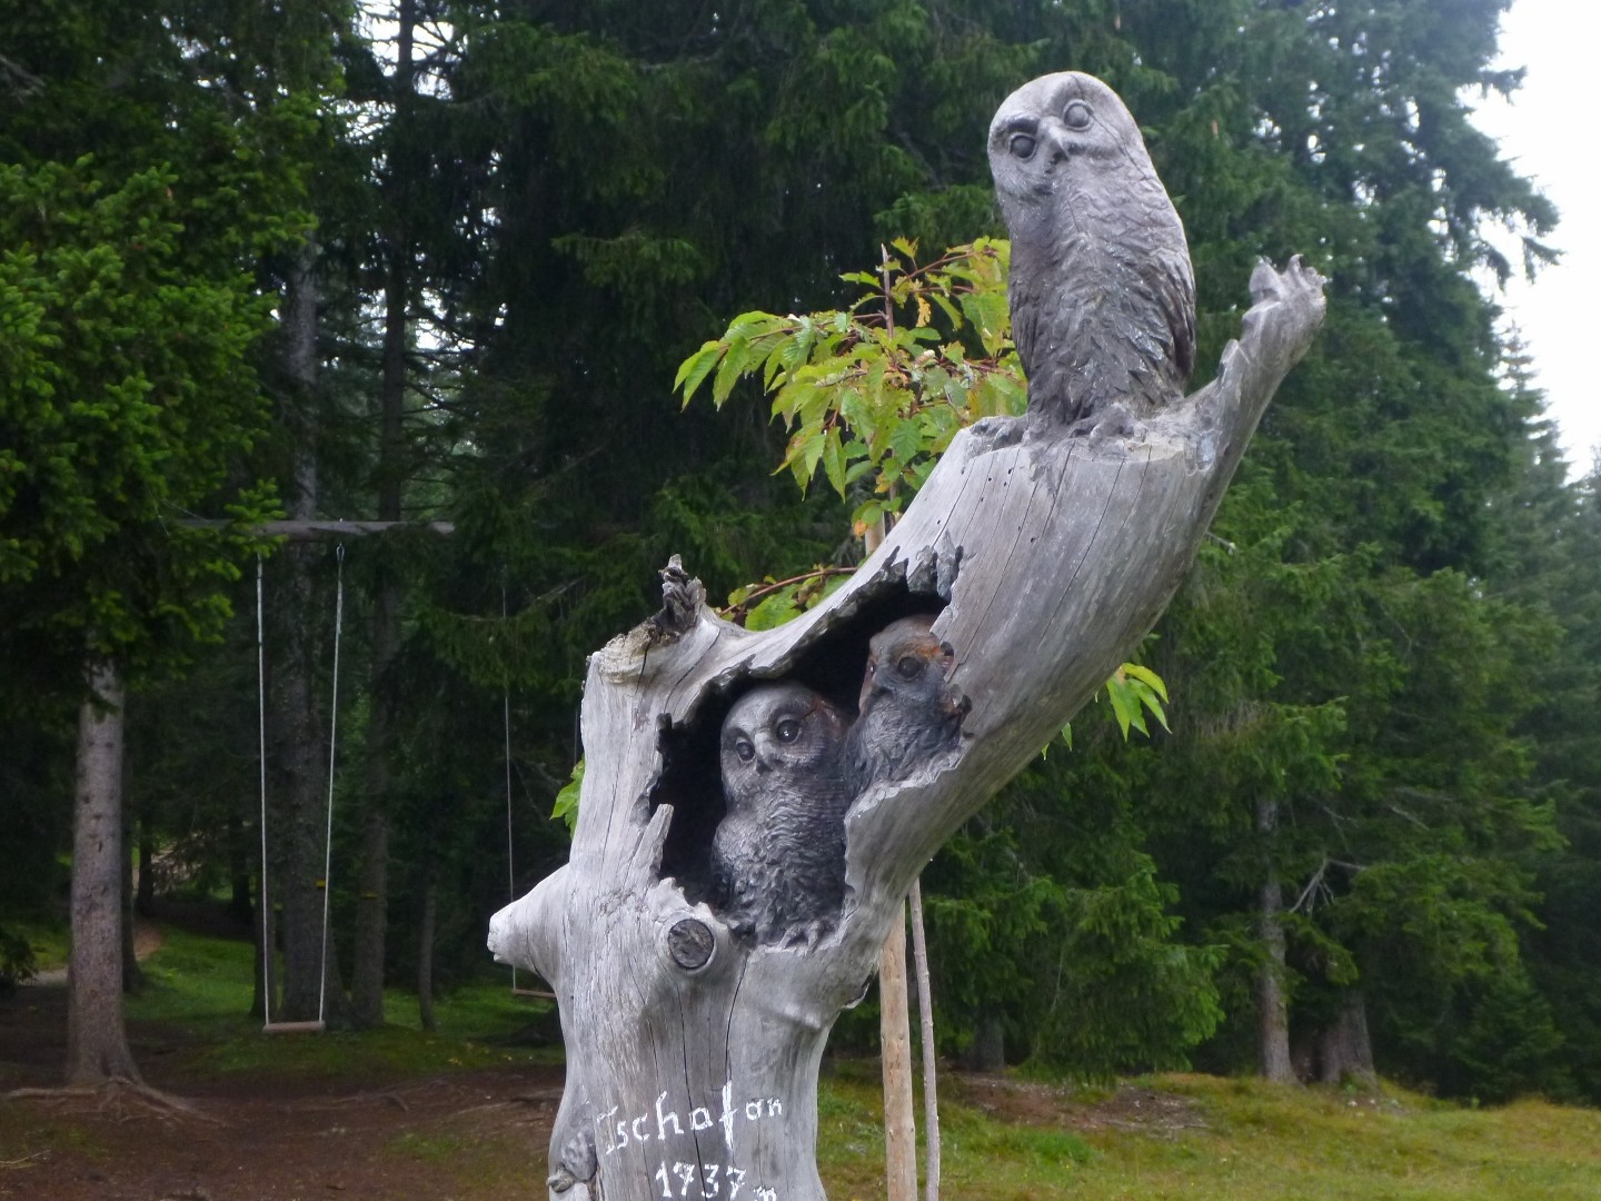
<instances>
[{"instance_id":1,"label":"bare brown dirt ground left of the carved trunk, under the swing","mask_svg":"<svg viewBox=\"0 0 1601 1201\"><path fill-rule=\"evenodd\" d=\"M146 1081L199 1105L130 1097L0 1100L0 1198L50 1201L527 1201L544 1188L560 1068L403 1084L178 1078L133 1033ZM142 1044L142 1046L141 1046ZM0 1001L0 1092L59 1081L66 988Z\"/></svg>"}]
</instances>

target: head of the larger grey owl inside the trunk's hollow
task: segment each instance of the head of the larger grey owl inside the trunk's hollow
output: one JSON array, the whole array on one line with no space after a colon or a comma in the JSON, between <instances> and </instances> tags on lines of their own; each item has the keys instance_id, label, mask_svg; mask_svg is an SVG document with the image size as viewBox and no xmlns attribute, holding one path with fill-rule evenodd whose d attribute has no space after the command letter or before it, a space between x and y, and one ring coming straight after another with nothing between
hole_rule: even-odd
<instances>
[{"instance_id":1,"label":"head of the larger grey owl inside the trunk's hollow","mask_svg":"<svg viewBox=\"0 0 1601 1201\"><path fill-rule=\"evenodd\" d=\"M796 777L836 772L844 740L844 714L804 684L751 689L722 722L728 810Z\"/></svg>"}]
</instances>

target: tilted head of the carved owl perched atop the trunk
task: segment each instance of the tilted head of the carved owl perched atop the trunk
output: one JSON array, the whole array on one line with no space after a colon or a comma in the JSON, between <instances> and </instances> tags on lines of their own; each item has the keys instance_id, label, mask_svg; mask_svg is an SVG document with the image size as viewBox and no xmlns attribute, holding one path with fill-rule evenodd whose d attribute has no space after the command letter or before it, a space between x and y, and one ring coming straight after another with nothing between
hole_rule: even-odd
<instances>
[{"instance_id":1,"label":"tilted head of the carved owl perched atop the trunk","mask_svg":"<svg viewBox=\"0 0 1601 1201\"><path fill-rule=\"evenodd\" d=\"M989 171L1013 237L1063 184L1124 191L1150 181L1161 189L1117 93L1076 70L1042 75L1001 102L989 123Z\"/></svg>"}]
</instances>

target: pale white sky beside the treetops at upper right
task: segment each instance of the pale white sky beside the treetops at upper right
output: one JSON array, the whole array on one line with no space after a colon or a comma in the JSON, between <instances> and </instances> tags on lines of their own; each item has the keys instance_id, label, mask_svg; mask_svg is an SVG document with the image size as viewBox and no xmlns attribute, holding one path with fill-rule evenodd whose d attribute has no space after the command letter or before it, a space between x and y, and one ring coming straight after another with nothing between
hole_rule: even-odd
<instances>
[{"instance_id":1,"label":"pale white sky beside the treetops at upper right","mask_svg":"<svg viewBox=\"0 0 1601 1201\"><path fill-rule=\"evenodd\" d=\"M1511 104L1470 102L1476 123L1500 141L1503 157L1532 178L1563 223L1548 239L1563 251L1527 285L1519 277L1495 301L1516 323L1534 360L1535 383L1563 434L1571 472L1583 474L1601 450L1596 357L1601 331L1601 131L1590 120L1590 85L1601 75L1601 5L1593 0L1515 0L1502 19L1503 67L1526 67ZM1513 259L1515 263L1518 259Z\"/></svg>"}]
</instances>

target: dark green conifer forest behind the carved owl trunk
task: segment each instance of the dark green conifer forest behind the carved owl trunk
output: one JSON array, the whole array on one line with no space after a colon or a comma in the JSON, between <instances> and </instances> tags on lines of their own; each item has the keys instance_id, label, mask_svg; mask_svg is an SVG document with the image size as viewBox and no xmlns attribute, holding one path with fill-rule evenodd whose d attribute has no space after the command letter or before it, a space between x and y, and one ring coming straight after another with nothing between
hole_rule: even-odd
<instances>
[{"instance_id":1,"label":"dark green conifer forest behind the carved owl trunk","mask_svg":"<svg viewBox=\"0 0 1601 1201\"><path fill-rule=\"evenodd\" d=\"M668 556L712 596L860 559L866 477L799 493L759 383L685 408L676 368L850 304L897 239L1002 232L989 115L1073 67L1185 221L1201 364L1257 256L1306 255L1329 319L1143 649L1170 730L1092 706L925 873L943 1049L1601 1100L1598 477L1475 282L1559 245L1470 120L1518 82L1505 3L3 10L0 970L64 913L107 666L126 906L231 890L259 929L261 551L258 1009L373 1025L386 980L482 972L565 855L584 657ZM275 516L418 528L341 562Z\"/></svg>"}]
</instances>

